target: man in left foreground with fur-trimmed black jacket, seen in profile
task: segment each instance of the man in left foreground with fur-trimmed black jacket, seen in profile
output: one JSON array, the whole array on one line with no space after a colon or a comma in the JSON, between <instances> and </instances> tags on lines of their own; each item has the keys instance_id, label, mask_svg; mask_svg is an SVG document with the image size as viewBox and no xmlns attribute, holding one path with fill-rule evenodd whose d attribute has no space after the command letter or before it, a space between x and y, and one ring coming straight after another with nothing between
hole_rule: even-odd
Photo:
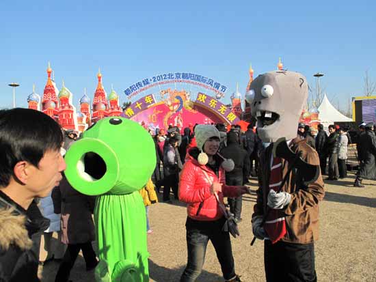
<instances>
[{"instance_id":1,"label":"man in left foreground with fur-trimmed black jacket, seen in profile","mask_svg":"<svg viewBox=\"0 0 376 282\"><path fill-rule=\"evenodd\" d=\"M39 281L33 234L49 227L35 197L46 197L66 167L62 130L32 109L0 111L0 281Z\"/></svg>"}]
</instances>

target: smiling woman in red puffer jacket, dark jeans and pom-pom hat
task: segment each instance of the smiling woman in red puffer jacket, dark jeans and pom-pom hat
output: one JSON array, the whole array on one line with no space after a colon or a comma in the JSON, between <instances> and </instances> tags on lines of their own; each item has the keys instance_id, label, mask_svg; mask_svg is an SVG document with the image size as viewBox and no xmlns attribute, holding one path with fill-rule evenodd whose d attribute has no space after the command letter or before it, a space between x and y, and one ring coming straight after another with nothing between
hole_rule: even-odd
<instances>
[{"instance_id":1,"label":"smiling woman in red puffer jacket, dark jeans and pom-pom hat","mask_svg":"<svg viewBox=\"0 0 376 282\"><path fill-rule=\"evenodd\" d=\"M228 231L222 231L226 218L215 193L224 204L224 197L239 197L247 193L248 188L226 186L224 169L230 169L230 162L217 155L219 132L215 126L198 125L195 136L197 147L189 151L189 160L183 167L179 183L179 199L187 203L188 214L185 224L188 263L180 282L196 281L202 271L209 240L217 253L224 279L241 281L235 274L230 235Z\"/></svg>"}]
</instances>

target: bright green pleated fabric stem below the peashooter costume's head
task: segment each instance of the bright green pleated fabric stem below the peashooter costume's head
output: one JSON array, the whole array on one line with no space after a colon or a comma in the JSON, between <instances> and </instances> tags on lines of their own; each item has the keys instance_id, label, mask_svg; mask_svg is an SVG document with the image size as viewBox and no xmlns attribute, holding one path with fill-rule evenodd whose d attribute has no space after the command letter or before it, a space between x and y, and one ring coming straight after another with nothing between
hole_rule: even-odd
<instances>
[{"instance_id":1,"label":"bright green pleated fabric stem below the peashooter costume's head","mask_svg":"<svg viewBox=\"0 0 376 282\"><path fill-rule=\"evenodd\" d=\"M149 281L146 214L139 192L98 196L94 219L101 261L97 281Z\"/></svg>"}]
</instances>

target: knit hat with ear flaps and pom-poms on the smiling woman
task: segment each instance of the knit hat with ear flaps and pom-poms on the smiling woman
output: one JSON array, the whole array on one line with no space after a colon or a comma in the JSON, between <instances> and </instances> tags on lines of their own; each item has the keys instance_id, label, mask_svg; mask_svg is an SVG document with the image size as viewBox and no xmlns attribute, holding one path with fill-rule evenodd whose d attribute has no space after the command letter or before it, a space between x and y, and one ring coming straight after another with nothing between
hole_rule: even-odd
<instances>
[{"instance_id":1,"label":"knit hat with ear flaps and pom-poms on the smiling woman","mask_svg":"<svg viewBox=\"0 0 376 282\"><path fill-rule=\"evenodd\" d=\"M204 144L210 138L217 137L219 139L219 131L215 126L209 124L198 124L195 128L195 137L198 150L201 151L197 158L198 163L200 165L206 165L209 162L209 156L204 152ZM223 167L225 171L232 171L232 169L234 169L235 165L233 160L230 158L226 159L218 153L217 156L224 160L221 163L221 167Z\"/></svg>"}]
</instances>

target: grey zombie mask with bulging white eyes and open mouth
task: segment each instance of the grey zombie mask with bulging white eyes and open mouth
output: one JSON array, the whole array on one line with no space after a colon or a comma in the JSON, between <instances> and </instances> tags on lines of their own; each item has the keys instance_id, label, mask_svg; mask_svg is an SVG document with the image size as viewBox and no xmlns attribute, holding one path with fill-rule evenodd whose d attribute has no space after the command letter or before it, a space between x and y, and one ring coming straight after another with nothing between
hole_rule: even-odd
<instances>
[{"instance_id":1,"label":"grey zombie mask with bulging white eyes and open mouth","mask_svg":"<svg viewBox=\"0 0 376 282\"><path fill-rule=\"evenodd\" d=\"M308 97L306 77L297 72L267 72L252 81L245 99L257 119L257 131L264 142L297 137L297 124Z\"/></svg>"}]
</instances>

